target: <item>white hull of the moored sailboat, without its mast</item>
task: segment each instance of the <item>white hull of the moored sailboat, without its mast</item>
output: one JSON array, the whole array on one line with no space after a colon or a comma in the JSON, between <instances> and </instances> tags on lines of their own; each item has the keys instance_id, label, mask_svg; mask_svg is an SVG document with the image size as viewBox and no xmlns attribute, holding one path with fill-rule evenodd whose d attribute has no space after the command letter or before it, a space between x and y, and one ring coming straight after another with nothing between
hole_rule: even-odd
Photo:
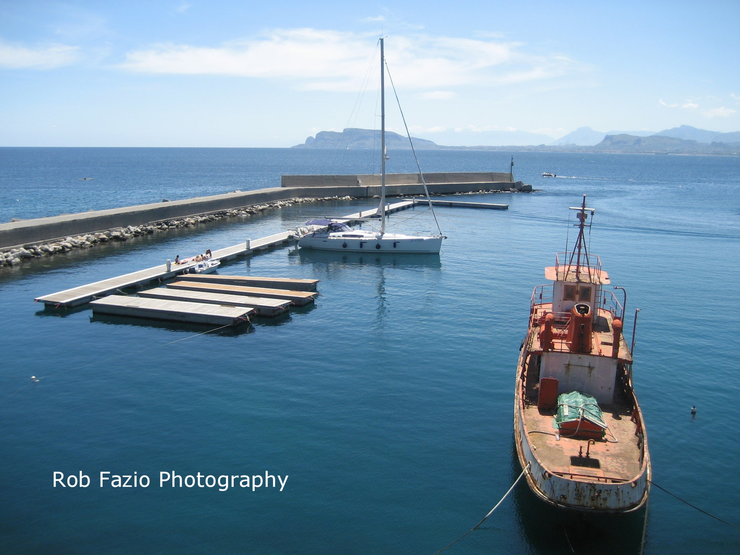
<instances>
[{"instance_id":1,"label":"white hull of the moored sailboat, without its mast","mask_svg":"<svg viewBox=\"0 0 740 555\"><path fill-rule=\"evenodd\" d=\"M363 233L361 237L357 235L360 234L356 231L348 234L315 232L300 238L298 246L332 251L410 252L435 255L440 254L442 248L441 237L417 237L397 233Z\"/></svg>"}]
</instances>

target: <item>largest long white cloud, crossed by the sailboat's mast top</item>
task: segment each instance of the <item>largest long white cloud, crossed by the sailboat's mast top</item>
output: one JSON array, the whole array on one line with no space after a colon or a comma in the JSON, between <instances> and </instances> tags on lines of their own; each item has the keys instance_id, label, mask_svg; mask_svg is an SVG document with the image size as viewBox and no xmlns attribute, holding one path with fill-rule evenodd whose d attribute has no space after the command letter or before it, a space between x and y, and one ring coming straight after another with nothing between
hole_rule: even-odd
<instances>
[{"instance_id":1,"label":"largest long white cloud, crossed by the sailboat's mast top","mask_svg":"<svg viewBox=\"0 0 740 555\"><path fill-rule=\"evenodd\" d=\"M120 67L141 73L233 75L294 81L308 90L358 90L373 34L334 30L273 30L218 47L155 44L135 50ZM392 36L386 57L399 87L514 84L581 70L562 56L531 55L522 44L444 36Z\"/></svg>"}]
</instances>

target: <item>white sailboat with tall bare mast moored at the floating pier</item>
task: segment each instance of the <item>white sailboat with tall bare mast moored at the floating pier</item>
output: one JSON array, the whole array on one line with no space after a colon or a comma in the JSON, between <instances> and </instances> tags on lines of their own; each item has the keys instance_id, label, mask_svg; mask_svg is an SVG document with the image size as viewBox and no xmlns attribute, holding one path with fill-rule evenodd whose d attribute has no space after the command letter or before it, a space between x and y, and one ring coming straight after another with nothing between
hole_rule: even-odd
<instances>
[{"instance_id":1,"label":"white sailboat with tall bare mast moored at the floating pier","mask_svg":"<svg viewBox=\"0 0 740 555\"><path fill-rule=\"evenodd\" d=\"M390 75L389 75L390 76ZM391 79L391 84L392 84ZM400 107L400 106L399 106ZM403 118L403 112L401 112ZM406 125L406 118L403 118L403 124ZM417 162L419 175L421 177L429 209L434 215L434 207L431 205L431 198L426 189L424 174L421 171L419 159L414 149L414 142L411 141L411 135L408 134L408 141L411 143L411 150L414 152L414 159ZM380 230L366 231L364 229L353 229L347 225L346 219L318 219L309 220L307 226L320 226L317 231L309 232L298 241L298 246L304 249L321 249L337 251L354 251L354 252L416 252L427 254L440 254L442 240L444 236L440 231L437 223L438 235L403 235L400 233L386 232L386 57L383 50L383 38L380 38L380 204L377 208L377 217L380 218ZM437 216L434 216L437 221Z\"/></svg>"}]
</instances>

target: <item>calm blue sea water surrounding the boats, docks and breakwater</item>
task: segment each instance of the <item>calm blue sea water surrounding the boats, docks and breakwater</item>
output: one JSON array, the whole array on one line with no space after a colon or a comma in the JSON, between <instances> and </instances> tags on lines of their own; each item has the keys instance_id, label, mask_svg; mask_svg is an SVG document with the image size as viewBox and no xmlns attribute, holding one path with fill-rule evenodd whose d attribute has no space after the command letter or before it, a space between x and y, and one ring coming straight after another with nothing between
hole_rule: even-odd
<instances>
[{"instance_id":1,"label":"calm blue sea water surrounding the boats, docks and breakwater","mask_svg":"<svg viewBox=\"0 0 740 555\"><path fill-rule=\"evenodd\" d=\"M429 171L505 171L511 155L516 177L542 190L465 197L506 212L438 209L439 257L292 246L224 264L221 274L321 280L315 306L238 332L55 312L33 298L372 202L302 204L1 269L0 552L433 554L519 474L519 343L582 193L596 208L592 252L628 289L628 312L642 309L634 375L653 479L740 525L740 158L420 152ZM412 164L391 152L388 169ZM373 169L356 151L4 148L0 221ZM391 224L433 226L423 209ZM92 483L53 488L54 471ZM101 471L152 482L100 488ZM160 488L160 471L289 479L282 492ZM445 553L643 546L726 554L740 550L740 532L657 488L647 511L581 519L522 482Z\"/></svg>"}]
</instances>

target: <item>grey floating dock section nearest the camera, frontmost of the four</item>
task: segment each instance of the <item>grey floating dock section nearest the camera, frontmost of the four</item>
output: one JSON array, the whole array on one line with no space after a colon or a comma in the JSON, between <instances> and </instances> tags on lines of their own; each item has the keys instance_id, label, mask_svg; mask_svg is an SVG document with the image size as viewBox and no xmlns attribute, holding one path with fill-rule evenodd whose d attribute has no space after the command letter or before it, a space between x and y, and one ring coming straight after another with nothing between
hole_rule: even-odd
<instances>
[{"instance_id":1,"label":"grey floating dock section nearest the camera, frontmost of the four","mask_svg":"<svg viewBox=\"0 0 740 555\"><path fill-rule=\"evenodd\" d=\"M249 306L219 306L205 303L184 303L176 300L147 299L124 295L110 295L90 303L92 313L115 314L176 320L178 322L205 323L215 326L238 326L249 322L255 309Z\"/></svg>"}]
</instances>

